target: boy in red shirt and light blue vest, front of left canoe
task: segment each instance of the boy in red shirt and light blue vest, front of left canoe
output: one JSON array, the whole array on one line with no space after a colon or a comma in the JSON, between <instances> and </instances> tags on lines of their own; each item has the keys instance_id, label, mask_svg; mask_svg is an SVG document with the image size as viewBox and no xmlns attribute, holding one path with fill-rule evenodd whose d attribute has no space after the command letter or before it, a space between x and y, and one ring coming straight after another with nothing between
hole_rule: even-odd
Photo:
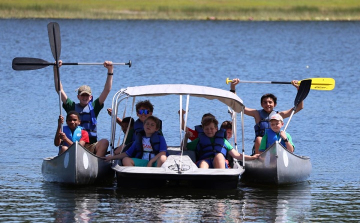
<instances>
[{"instance_id":1,"label":"boy in red shirt and light blue vest, front of left canoe","mask_svg":"<svg viewBox=\"0 0 360 223\"><path fill-rule=\"evenodd\" d=\"M54 138L54 145L59 146L58 155L66 151L73 142L78 141L80 145L84 146L85 143L89 143L87 131L82 130L80 124L80 115L77 111L69 111L66 115L66 124L62 127L63 116L59 115L57 120L57 130ZM61 142L62 141L62 142Z\"/></svg>"}]
</instances>

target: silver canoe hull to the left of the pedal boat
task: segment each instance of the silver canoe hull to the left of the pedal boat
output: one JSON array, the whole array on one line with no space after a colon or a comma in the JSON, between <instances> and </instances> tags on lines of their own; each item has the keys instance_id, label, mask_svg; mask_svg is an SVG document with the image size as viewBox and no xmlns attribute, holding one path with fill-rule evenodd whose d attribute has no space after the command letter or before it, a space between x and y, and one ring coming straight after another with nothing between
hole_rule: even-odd
<instances>
[{"instance_id":1,"label":"silver canoe hull to the left of the pedal boat","mask_svg":"<svg viewBox=\"0 0 360 223\"><path fill-rule=\"evenodd\" d=\"M110 162L105 162L77 142L60 155L43 158L41 173L46 181L76 185L114 178Z\"/></svg>"}]
</instances>

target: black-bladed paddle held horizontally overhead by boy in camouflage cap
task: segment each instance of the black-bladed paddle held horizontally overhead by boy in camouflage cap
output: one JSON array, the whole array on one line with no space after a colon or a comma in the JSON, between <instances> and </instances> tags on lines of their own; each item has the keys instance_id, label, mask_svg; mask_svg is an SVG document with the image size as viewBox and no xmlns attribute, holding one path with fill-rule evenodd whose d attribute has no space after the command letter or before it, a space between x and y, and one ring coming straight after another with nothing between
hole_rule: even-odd
<instances>
[{"instance_id":1,"label":"black-bladed paddle held horizontally overhead by boy in camouflage cap","mask_svg":"<svg viewBox=\"0 0 360 223\"><path fill-rule=\"evenodd\" d=\"M63 62L61 65L102 65L102 62ZM131 67L131 60L129 62L113 62L113 65L128 65ZM15 57L12 59L12 69L14 70L31 70L41 69L49 65L56 65L56 62L48 62L39 58L31 57Z\"/></svg>"}]
</instances>

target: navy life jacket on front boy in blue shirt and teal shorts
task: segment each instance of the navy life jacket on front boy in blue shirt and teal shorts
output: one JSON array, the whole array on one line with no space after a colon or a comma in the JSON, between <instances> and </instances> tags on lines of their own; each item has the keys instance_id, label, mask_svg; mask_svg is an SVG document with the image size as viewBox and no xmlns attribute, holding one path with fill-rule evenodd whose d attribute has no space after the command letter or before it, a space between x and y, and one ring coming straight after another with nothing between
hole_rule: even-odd
<instances>
[{"instance_id":1,"label":"navy life jacket on front boy in blue shirt and teal shorts","mask_svg":"<svg viewBox=\"0 0 360 223\"><path fill-rule=\"evenodd\" d=\"M150 137L150 144L152 147L152 152L148 152L149 156L150 153L157 154L160 150L160 139L159 139L160 133L158 131L155 131L151 137ZM135 140L135 149L134 152L131 154L130 157L134 158L142 158L143 154L143 147L142 147L142 137L145 136L145 131L141 130L136 134L136 140Z\"/></svg>"}]
</instances>

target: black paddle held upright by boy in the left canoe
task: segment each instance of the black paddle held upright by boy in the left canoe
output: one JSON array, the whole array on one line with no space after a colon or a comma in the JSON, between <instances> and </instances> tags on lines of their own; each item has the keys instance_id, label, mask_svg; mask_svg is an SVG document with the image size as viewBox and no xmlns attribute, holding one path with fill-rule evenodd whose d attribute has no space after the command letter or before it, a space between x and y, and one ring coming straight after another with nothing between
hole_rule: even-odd
<instances>
[{"instance_id":1,"label":"black paddle held upright by boy in the left canoe","mask_svg":"<svg viewBox=\"0 0 360 223\"><path fill-rule=\"evenodd\" d=\"M59 95L59 109L60 115L61 112L61 90L60 90L60 71L59 71L59 58L61 52L61 39L60 39L60 26L56 22L49 22L47 24L47 32L49 36L50 48L52 55L55 59L56 71L57 71L57 90ZM62 132L62 124L61 124Z\"/></svg>"}]
</instances>

